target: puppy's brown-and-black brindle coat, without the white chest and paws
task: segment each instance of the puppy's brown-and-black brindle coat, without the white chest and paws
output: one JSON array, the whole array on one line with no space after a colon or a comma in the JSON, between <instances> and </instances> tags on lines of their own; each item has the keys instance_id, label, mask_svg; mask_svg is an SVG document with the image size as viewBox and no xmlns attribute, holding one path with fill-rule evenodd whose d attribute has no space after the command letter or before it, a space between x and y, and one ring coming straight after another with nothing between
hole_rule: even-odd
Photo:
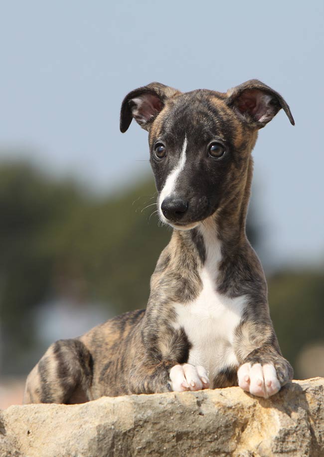
<instances>
[{"instance_id":1,"label":"puppy's brown-and-black brindle coat, without the white chest and paws","mask_svg":"<svg viewBox=\"0 0 324 457\"><path fill-rule=\"evenodd\" d=\"M146 310L126 313L79 338L52 344L27 378L24 403L78 403L104 395L171 389L170 369L188 362L192 350L190 335L174 325L174 304L193 302L203 287L200 271L208 246L199 221L221 246L215 290L230 298L248 297L234 330L232 346L237 364L219 367L212 373L210 385L237 385L238 366L246 362L273 363L281 385L292 379L292 367L281 355L270 319L263 269L245 233L251 151L258 129L281 108L294 124L284 99L257 80L227 93L181 93L152 83L126 96L121 131L128 129L133 118L149 131L159 193L176 165L183 138L188 138L192 169L177 185L187 189L192 205L184 220L173 226L187 228L191 224L192 228L173 230L152 275ZM226 148L226 155L211 164L204 151L215 138ZM157 160L154 152L161 141L168 150L164 162Z\"/></svg>"}]
</instances>

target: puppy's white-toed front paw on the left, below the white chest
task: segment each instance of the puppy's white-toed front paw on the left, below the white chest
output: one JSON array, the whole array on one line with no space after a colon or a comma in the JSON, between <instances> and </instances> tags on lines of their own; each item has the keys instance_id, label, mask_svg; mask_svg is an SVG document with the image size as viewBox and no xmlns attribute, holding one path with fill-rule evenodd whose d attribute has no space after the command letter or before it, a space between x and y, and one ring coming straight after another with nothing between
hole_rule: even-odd
<instances>
[{"instance_id":1,"label":"puppy's white-toed front paw on the left, below the white chest","mask_svg":"<svg viewBox=\"0 0 324 457\"><path fill-rule=\"evenodd\" d=\"M170 370L170 380L173 392L201 390L209 387L208 374L204 367L194 367L188 363L174 365Z\"/></svg>"}]
</instances>

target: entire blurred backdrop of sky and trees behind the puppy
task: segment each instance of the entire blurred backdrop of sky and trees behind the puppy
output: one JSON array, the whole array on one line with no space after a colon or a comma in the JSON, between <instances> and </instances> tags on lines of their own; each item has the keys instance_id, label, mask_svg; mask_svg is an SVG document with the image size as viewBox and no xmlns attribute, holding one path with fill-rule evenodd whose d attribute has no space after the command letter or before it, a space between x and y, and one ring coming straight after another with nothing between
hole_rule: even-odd
<instances>
[{"instance_id":1,"label":"entire blurred backdrop of sky and trees behind the puppy","mask_svg":"<svg viewBox=\"0 0 324 457\"><path fill-rule=\"evenodd\" d=\"M295 378L324 376L323 19L323 1L1 4L0 407L53 341L146 306L170 230L119 110L151 81L258 78L289 103L296 126L280 111L253 153L248 233Z\"/></svg>"}]
</instances>

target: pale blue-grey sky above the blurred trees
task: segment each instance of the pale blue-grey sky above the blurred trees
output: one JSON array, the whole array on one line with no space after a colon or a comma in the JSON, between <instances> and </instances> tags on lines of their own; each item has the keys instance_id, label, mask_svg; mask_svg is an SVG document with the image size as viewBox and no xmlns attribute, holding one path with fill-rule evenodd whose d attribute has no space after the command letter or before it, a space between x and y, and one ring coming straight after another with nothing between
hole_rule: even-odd
<instances>
[{"instance_id":1,"label":"pale blue-grey sky above the blurred trees","mask_svg":"<svg viewBox=\"0 0 324 457\"><path fill-rule=\"evenodd\" d=\"M150 173L147 132L119 131L130 90L226 91L258 78L296 121L281 110L253 153L263 257L323 265L323 51L323 1L3 1L0 160L115 192Z\"/></svg>"}]
</instances>

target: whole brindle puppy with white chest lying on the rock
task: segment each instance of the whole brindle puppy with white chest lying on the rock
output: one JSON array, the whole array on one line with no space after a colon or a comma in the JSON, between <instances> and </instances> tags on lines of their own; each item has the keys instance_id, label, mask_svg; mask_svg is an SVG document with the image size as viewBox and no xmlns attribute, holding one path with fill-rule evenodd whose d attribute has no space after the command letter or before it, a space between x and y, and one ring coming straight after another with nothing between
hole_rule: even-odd
<instances>
[{"instance_id":1,"label":"whole brindle puppy with white chest lying on the rock","mask_svg":"<svg viewBox=\"0 0 324 457\"><path fill-rule=\"evenodd\" d=\"M284 99L251 80L226 94L160 83L130 92L121 131L149 131L158 210L174 230L146 310L60 340L27 378L25 403L240 385L269 397L292 379L269 315L262 266L245 234L258 130Z\"/></svg>"}]
</instances>

